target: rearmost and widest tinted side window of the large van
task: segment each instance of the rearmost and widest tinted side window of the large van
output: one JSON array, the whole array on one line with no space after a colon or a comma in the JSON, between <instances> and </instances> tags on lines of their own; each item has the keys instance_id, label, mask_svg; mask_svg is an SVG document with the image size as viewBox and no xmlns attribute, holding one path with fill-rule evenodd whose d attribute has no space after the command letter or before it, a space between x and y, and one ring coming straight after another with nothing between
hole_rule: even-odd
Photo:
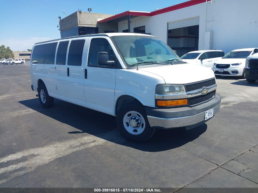
<instances>
[{"instance_id":1,"label":"rearmost and widest tinted side window of the large van","mask_svg":"<svg viewBox=\"0 0 258 193\"><path fill-rule=\"evenodd\" d=\"M57 42L36 45L33 48L31 63L54 64Z\"/></svg>"}]
</instances>

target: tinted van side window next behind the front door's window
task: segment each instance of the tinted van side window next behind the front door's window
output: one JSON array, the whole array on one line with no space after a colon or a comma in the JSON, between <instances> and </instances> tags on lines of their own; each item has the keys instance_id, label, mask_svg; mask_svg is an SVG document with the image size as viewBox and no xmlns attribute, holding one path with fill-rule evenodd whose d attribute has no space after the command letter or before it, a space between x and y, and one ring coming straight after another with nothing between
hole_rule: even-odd
<instances>
[{"instance_id":1,"label":"tinted van side window next behind the front door's window","mask_svg":"<svg viewBox=\"0 0 258 193\"><path fill-rule=\"evenodd\" d=\"M82 52L85 40L72 40L69 46L67 65L82 66Z\"/></svg>"}]
</instances>

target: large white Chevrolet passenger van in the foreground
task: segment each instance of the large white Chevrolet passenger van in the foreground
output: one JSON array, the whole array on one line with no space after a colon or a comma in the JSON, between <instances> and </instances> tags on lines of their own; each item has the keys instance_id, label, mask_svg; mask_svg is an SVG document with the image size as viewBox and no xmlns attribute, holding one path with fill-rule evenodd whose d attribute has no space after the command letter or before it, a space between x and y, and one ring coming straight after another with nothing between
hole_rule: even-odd
<instances>
[{"instance_id":1,"label":"large white Chevrolet passenger van in the foreground","mask_svg":"<svg viewBox=\"0 0 258 193\"><path fill-rule=\"evenodd\" d=\"M45 108L54 98L116 116L130 141L156 128L203 124L220 109L211 69L185 64L160 39L110 33L61 38L33 46L31 88Z\"/></svg>"}]
</instances>

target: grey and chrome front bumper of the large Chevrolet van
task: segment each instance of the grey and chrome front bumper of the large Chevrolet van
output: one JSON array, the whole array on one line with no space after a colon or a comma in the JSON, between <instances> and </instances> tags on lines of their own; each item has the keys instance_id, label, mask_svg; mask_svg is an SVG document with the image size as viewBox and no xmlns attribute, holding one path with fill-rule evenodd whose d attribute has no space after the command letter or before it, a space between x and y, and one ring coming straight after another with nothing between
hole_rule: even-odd
<instances>
[{"instance_id":1,"label":"grey and chrome front bumper of the large Chevrolet van","mask_svg":"<svg viewBox=\"0 0 258 193\"><path fill-rule=\"evenodd\" d=\"M218 113L220 102L221 96L216 94L209 102L205 102L194 107L179 107L171 109L145 107L145 110L151 127L162 129L186 127L186 129L191 129L205 122L205 112L207 110L214 109L213 116Z\"/></svg>"}]
</instances>

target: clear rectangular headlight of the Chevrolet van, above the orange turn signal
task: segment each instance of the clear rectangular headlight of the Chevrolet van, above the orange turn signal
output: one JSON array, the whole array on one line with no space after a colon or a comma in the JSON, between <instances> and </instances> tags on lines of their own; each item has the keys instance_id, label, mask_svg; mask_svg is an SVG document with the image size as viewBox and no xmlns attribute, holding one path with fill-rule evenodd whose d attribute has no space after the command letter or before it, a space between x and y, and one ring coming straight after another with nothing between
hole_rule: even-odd
<instances>
[{"instance_id":1,"label":"clear rectangular headlight of the Chevrolet van, above the orange turn signal","mask_svg":"<svg viewBox=\"0 0 258 193\"><path fill-rule=\"evenodd\" d=\"M184 92L185 88L183 84L158 84L156 86L156 94L158 95L176 94Z\"/></svg>"}]
</instances>

